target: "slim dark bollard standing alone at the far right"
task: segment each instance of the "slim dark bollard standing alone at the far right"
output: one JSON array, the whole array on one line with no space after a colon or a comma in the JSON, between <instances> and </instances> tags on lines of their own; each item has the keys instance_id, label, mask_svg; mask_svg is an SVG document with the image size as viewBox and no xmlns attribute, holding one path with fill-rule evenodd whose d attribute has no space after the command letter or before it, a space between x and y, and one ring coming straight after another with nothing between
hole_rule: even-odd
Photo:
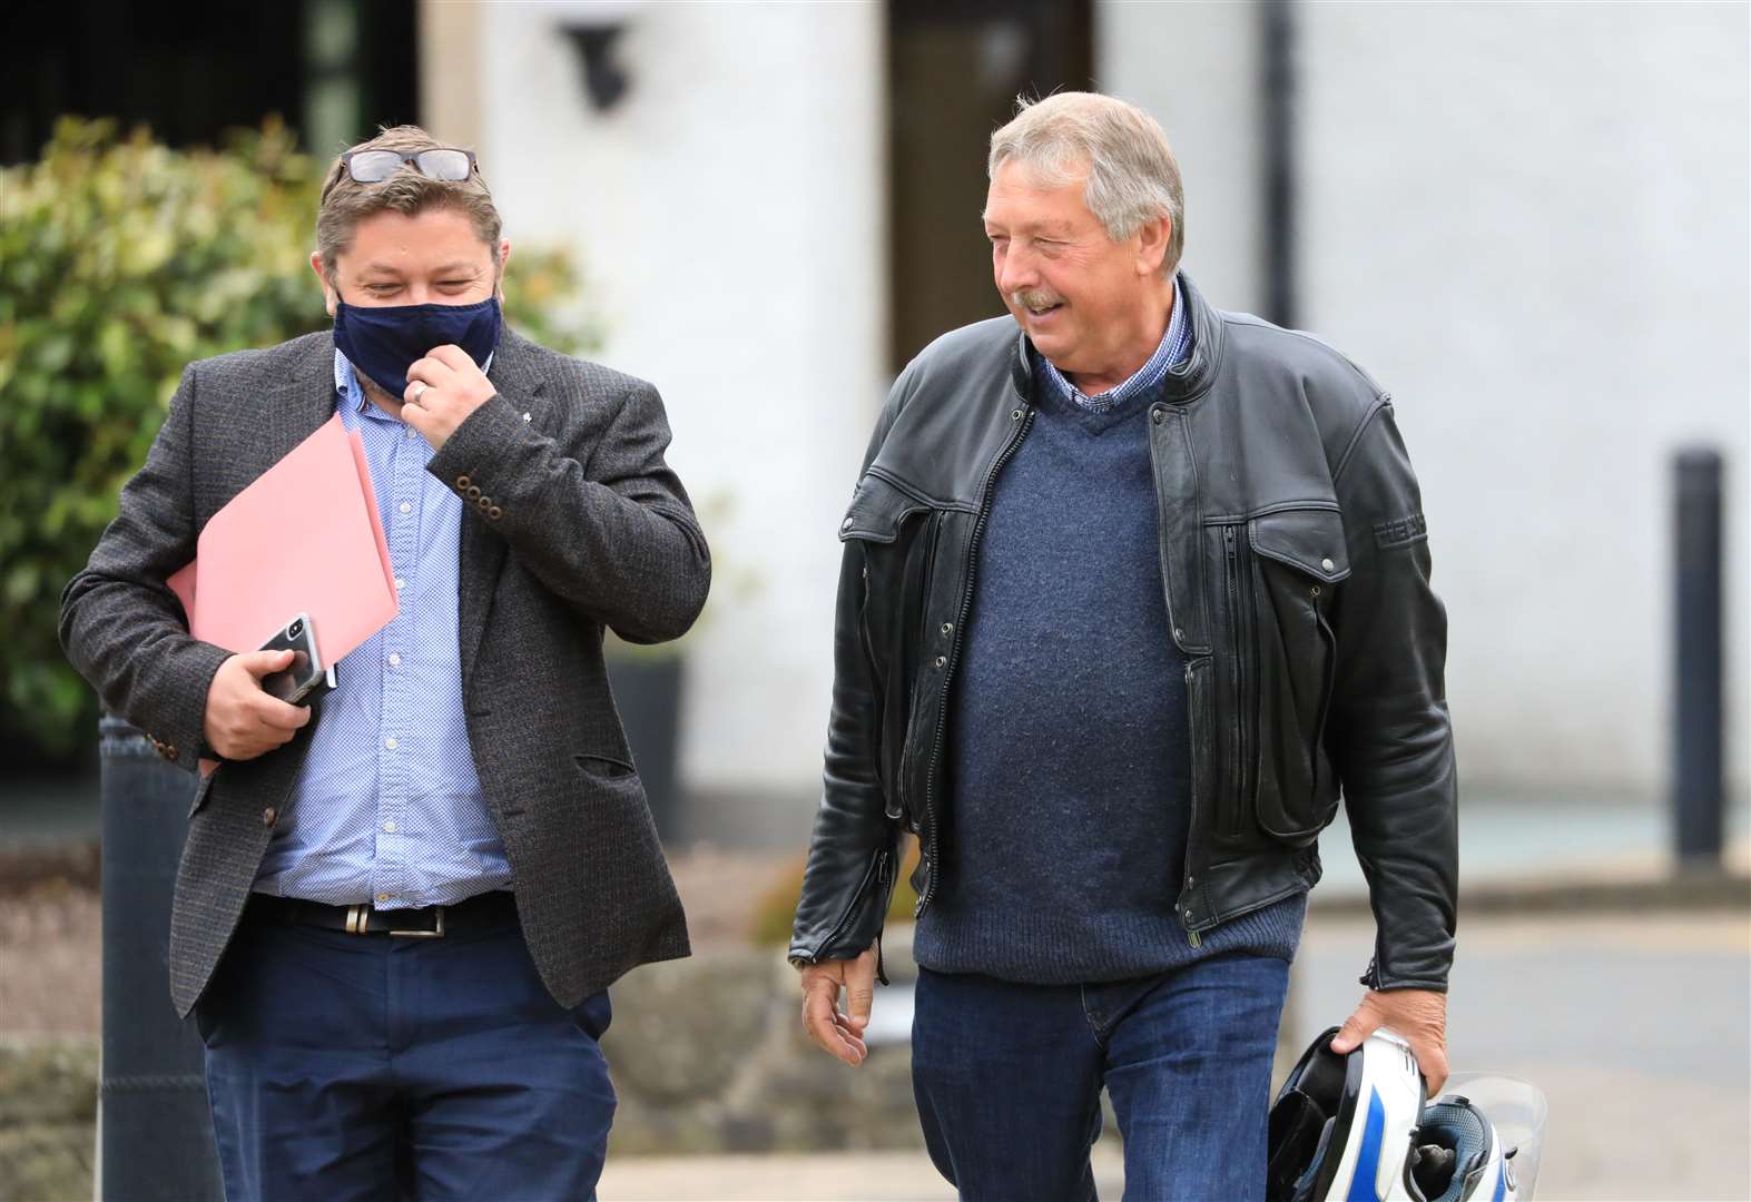
<instances>
[{"instance_id":1,"label":"slim dark bollard standing alone at the far right","mask_svg":"<svg viewBox=\"0 0 1751 1202\"><path fill-rule=\"evenodd\" d=\"M1714 868L1725 819L1719 451L1679 451L1676 476L1672 821L1679 863Z\"/></svg>"}]
</instances>

